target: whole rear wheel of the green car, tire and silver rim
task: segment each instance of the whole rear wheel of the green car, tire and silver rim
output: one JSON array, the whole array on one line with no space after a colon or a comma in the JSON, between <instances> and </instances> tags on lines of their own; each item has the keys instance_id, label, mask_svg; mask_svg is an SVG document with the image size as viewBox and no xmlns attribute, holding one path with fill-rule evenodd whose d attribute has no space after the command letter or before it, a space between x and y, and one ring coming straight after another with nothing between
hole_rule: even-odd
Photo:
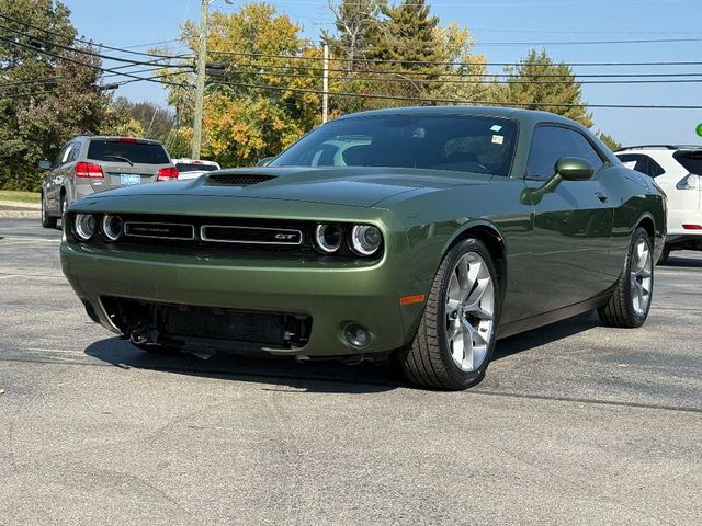
<instances>
[{"instance_id":1,"label":"whole rear wheel of the green car, tire and silver rim","mask_svg":"<svg viewBox=\"0 0 702 526\"><path fill-rule=\"evenodd\" d=\"M646 230L637 228L612 297L598 309L600 319L610 327L633 329L643 325L650 309L653 287L653 242Z\"/></svg>"}]
</instances>

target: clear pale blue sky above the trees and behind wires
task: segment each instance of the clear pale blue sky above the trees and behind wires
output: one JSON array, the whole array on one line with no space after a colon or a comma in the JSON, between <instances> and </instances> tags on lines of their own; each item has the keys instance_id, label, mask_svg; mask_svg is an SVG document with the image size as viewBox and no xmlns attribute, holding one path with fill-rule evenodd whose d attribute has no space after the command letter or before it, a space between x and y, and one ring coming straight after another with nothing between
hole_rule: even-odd
<instances>
[{"instance_id":1,"label":"clear pale blue sky above the trees and behind wires","mask_svg":"<svg viewBox=\"0 0 702 526\"><path fill-rule=\"evenodd\" d=\"M241 0L213 0L212 11L231 12ZM79 35L95 43L146 50L182 50L177 42L185 20L199 21L200 0L64 0ZM333 28L327 0L274 0L318 41ZM488 62L513 62L530 48L545 48L555 60L574 62L702 62L702 0L435 0L432 13L441 24L467 27L474 52ZM622 43L621 41L688 41ZM607 41L608 43L592 44ZM611 41L619 41L611 43ZM567 44L564 44L567 43ZM133 58L133 57L132 57ZM109 62L105 64L107 66ZM500 72L499 67L490 72ZM702 64L692 66L574 67L576 75L697 73L697 83L584 84L582 99L591 104L702 105ZM106 81L107 79L105 79ZM113 79L114 80L114 79ZM158 84L135 82L116 91L132 101L166 104ZM624 145L701 144L695 126L702 110L592 108L593 129Z\"/></svg>"}]
</instances>

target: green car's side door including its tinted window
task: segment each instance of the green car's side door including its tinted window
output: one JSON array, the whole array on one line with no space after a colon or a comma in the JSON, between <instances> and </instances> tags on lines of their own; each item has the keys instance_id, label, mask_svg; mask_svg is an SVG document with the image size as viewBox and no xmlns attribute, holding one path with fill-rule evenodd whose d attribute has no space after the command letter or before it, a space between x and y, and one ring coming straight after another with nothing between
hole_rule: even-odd
<instances>
[{"instance_id":1,"label":"green car's side door including its tinted window","mask_svg":"<svg viewBox=\"0 0 702 526\"><path fill-rule=\"evenodd\" d=\"M600 153L575 128L537 126L525 183L540 187L554 175L556 162L563 157L588 160L595 175L588 181L564 180L533 202L532 313L567 307L603 291L613 203L598 180L607 170Z\"/></svg>"}]
</instances>

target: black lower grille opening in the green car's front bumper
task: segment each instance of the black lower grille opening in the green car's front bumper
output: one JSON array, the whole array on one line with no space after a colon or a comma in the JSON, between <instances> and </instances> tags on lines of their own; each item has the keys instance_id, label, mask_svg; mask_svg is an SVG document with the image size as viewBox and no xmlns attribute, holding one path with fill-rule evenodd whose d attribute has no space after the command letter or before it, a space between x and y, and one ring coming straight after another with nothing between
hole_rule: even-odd
<instances>
[{"instance_id":1,"label":"black lower grille opening in the green car's front bumper","mask_svg":"<svg viewBox=\"0 0 702 526\"><path fill-rule=\"evenodd\" d=\"M145 335L145 343L212 346L228 350L303 346L312 318L287 312L263 312L217 307L158 304L127 298L101 298L123 333Z\"/></svg>"}]
</instances>

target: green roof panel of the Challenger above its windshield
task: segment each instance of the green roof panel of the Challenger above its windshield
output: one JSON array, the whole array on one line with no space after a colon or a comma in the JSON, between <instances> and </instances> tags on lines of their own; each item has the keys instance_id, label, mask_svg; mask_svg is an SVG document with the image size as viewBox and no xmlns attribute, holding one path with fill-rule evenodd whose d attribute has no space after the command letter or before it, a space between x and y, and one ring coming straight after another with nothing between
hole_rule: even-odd
<instances>
[{"instance_id":1,"label":"green roof panel of the Challenger above its windshield","mask_svg":"<svg viewBox=\"0 0 702 526\"><path fill-rule=\"evenodd\" d=\"M540 112L535 110L522 110L516 107L498 107L498 106L468 106L468 105L453 105L453 106L409 106L409 107L393 107L386 110L371 110L367 112L352 113L338 117L338 119L354 118L354 117L370 117L382 115L434 115L434 116L456 116L456 115L472 115L479 117L502 117L511 118L523 124L537 124L543 122L561 123L567 125L577 125L582 127L575 121L556 115L550 112Z\"/></svg>"}]
</instances>

